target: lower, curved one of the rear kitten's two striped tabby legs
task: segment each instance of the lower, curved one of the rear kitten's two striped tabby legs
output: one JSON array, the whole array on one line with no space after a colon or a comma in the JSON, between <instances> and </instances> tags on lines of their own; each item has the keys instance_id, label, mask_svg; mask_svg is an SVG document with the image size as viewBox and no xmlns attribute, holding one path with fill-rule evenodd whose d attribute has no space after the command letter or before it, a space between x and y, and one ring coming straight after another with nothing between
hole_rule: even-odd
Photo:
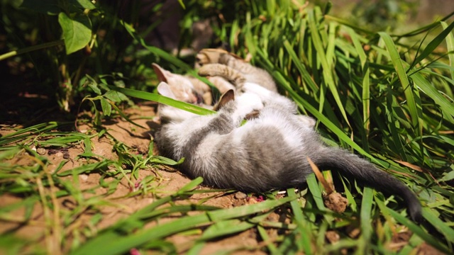
<instances>
[{"instance_id":1,"label":"lower, curved one of the rear kitten's two striped tabby legs","mask_svg":"<svg viewBox=\"0 0 454 255\"><path fill-rule=\"evenodd\" d=\"M203 77L222 77L233 84L233 86L236 86L236 88L243 86L246 82L246 77L242 72L225 64L204 64L200 67L198 73Z\"/></svg>"}]
</instances>

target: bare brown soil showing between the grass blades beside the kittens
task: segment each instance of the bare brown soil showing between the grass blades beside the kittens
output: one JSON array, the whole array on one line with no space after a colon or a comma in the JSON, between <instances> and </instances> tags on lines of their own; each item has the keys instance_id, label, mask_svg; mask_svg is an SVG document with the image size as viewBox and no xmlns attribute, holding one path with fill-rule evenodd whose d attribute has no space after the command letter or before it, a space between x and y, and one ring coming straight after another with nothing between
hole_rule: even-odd
<instances>
[{"instance_id":1,"label":"bare brown soil showing between the grass blades beside the kittens","mask_svg":"<svg viewBox=\"0 0 454 255\"><path fill-rule=\"evenodd\" d=\"M150 143L151 137L150 130L153 130L158 123L157 121L150 119L155 115L155 106L153 104L142 105L136 108L131 108L126 111L128 115L131 116L131 120L139 125L142 125L146 128L139 128L131 123L128 123L122 118L118 118L113 121L104 123L104 127L109 132L109 134L114 137L116 140L123 142L128 147L136 148L138 152L147 152L148 145ZM144 118L145 117L145 118ZM7 133L12 132L11 125L3 125L0 130L0 135L6 135ZM20 125L16 125L16 128ZM151 127L151 128L150 128ZM89 130L88 125L83 125L78 127L81 132L87 132ZM148 129L150 128L150 129ZM104 136L98 139L97 137L92 139L92 152L94 154L101 155L108 159L116 159L117 155L113 151L114 142L108 137ZM50 164L48 164L48 173L55 171L57 166L62 161L66 161L65 165L60 169L60 173L66 170L74 169L77 166L82 164L87 164L87 159L78 158L79 154L84 152L82 145L76 145L69 147L68 149L61 150L50 150L50 149L40 149L40 154L48 157ZM157 153L157 152L155 152ZM11 164L14 165L32 165L36 164L34 159L30 157L27 153L23 153L18 157L14 157L10 160ZM64 232L72 232L74 229L92 229L93 233L99 232L101 229L113 225L115 222L122 218L128 217L133 212L140 210L140 208L149 205L155 200L155 195L166 196L171 193L175 193L185 184L191 181L186 176L181 174L179 171L172 169L171 167L151 167L149 169L141 169L139 172L139 179L136 180L135 184L144 179L147 176L153 176L155 178L155 193L150 193L147 195L138 195L138 196L128 196L130 195L135 187L131 187L131 184L128 182L128 179L134 180L129 174L126 178L121 179L121 182L116 186L116 189L113 193L109 194L109 188L103 188L99 185L101 179L101 174L91 173L91 174L79 174L77 179L73 179L73 176L65 176L62 179L67 181L72 181L80 191L92 190L94 193L82 192L82 196L87 200L93 196L102 196L106 201L106 205L97 207L96 210L92 208L86 208L86 210L79 212L77 219L65 229L61 229ZM113 181L114 177L106 178L104 181ZM200 187L206 188L206 187ZM50 189L45 188L43 191L46 195L50 194ZM109 194L109 195L107 195ZM105 196L103 196L105 195ZM246 198L236 198L233 193L201 193L196 194L189 198L189 200L184 200L181 203L198 203L201 199L206 199L207 197L212 197L206 200L204 205L213 205L218 208L232 208L238 205L244 205L247 203L257 203L255 199ZM237 196L238 197L238 196ZM11 194L3 194L0 196L0 208L4 208L9 205L20 202L26 198L21 198ZM70 196L57 198L57 206L60 212L67 212L74 210L77 206L77 201ZM20 207L17 210L13 210L10 215L11 219L1 220L0 224L0 234L5 233L14 233L18 238L24 239L24 242L34 243L31 246L31 251L36 250L45 250L46 242L51 242L52 238L58 239L58 237L47 237L46 229L48 229L49 223L45 222L45 214L50 213L53 215L55 212L45 212L43 207L40 206L40 203L35 203L33 208L31 220L24 221L24 215L26 210L24 207ZM37 206L38 205L38 206ZM96 212L101 212L101 220L96 223L96 225L91 225L90 219L96 214ZM270 220L279 220L279 215L274 215L273 219ZM175 219L175 217L160 220L160 223L167 222L168 220ZM60 219L61 220L61 219ZM62 224L62 222L60 222ZM151 227L151 226L148 226ZM177 246L179 253L184 253L187 249L190 249L194 239L199 237L200 233L196 234L177 234L170 237L168 240ZM272 231L270 231L270 236L272 236ZM27 240L27 241L26 241ZM57 240L55 240L57 241ZM70 240L68 240L70 241ZM216 242L209 242L204 249L201 251L201 254L214 254L216 251L226 251L230 249L240 249L244 247L257 247L264 244L260 244L258 235L253 229L240 233L238 235L233 235L231 237L218 239ZM59 243L59 242L56 242ZM70 244L71 242L65 242ZM37 245L36 245L37 244ZM47 245L47 249L49 249ZM55 247L55 249L58 249ZM69 251L70 247L66 246L63 249L63 252ZM0 248L0 254L1 254ZM248 251L243 249L243 251L238 251L236 254L263 254L262 251Z\"/></svg>"}]
</instances>

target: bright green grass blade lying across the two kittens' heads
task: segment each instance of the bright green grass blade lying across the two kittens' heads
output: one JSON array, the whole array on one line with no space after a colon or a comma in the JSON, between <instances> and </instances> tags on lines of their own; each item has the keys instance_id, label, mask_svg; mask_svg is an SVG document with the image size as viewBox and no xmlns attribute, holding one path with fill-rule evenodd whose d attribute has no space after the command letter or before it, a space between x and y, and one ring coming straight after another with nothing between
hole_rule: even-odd
<instances>
[{"instance_id":1,"label":"bright green grass blade lying across the two kittens' heads","mask_svg":"<svg viewBox=\"0 0 454 255\"><path fill-rule=\"evenodd\" d=\"M125 94L126 96L133 96L135 98L145 99L148 101L154 101L157 103L163 103L167 106L173 106L175 108L179 108L184 111L189 111L190 113L195 113L198 115L209 115L209 114L216 113L215 111L211 111L206 108L201 108L201 107L195 106L191 103L177 101L175 99L168 98L167 96L162 96L159 94L149 93L149 92L145 92L145 91L136 91L133 89L119 88L116 86L109 86L109 89L121 92L121 93Z\"/></svg>"}]
</instances>

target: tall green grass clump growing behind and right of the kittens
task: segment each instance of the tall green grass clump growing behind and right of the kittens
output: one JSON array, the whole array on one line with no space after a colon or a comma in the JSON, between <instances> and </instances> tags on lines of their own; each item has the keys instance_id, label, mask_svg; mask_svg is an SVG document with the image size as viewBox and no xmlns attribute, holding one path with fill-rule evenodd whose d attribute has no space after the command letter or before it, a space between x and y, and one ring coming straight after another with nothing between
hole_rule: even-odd
<instances>
[{"instance_id":1,"label":"tall green grass clump growing behind and right of the kittens","mask_svg":"<svg viewBox=\"0 0 454 255\"><path fill-rule=\"evenodd\" d=\"M328 143L362 154L394 174L418 194L424 205L428 224L416 227L397 217L402 215L394 211L399 206L397 201L385 200L367 188L359 191L363 192L362 200L350 201L353 206L349 213L362 216L369 203L375 207L372 211L367 208L365 213L370 216L362 220L370 222L361 223L362 237L356 245L375 246L369 242L377 242L380 233L375 232L372 238L367 225L392 225L397 220L414 232L434 234L439 238L437 244L450 247L454 178L452 18L394 35L364 30L329 16L329 4L322 9L297 1L245 2L245 16L223 24L230 35L223 40L233 42L235 52L252 55L255 64L267 69L301 112L318 120ZM354 183L349 185L354 189ZM384 222L379 220L379 211L385 215ZM324 223L330 227L343 225ZM316 225L309 226L320 231ZM366 237L367 244L361 243ZM379 251L380 244L372 249Z\"/></svg>"}]
</instances>

